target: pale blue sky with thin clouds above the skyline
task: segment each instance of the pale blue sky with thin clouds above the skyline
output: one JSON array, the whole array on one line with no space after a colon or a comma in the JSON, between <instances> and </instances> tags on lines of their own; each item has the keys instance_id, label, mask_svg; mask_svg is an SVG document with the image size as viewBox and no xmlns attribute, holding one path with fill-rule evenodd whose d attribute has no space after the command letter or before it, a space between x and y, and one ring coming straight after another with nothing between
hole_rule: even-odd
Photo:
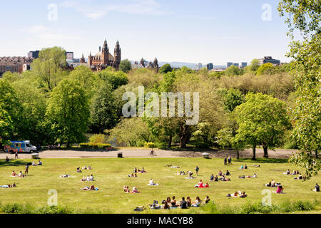
<instances>
[{"instance_id":1,"label":"pale blue sky with thin clouds above the skyline","mask_svg":"<svg viewBox=\"0 0 321 228\"><path fill-rule=\"evenodd\" d=\"M57 14L51 14L56 4ZM271 20L262 19L272 7ZM95 54L107 38L122 58L225 65L272 56L282 62L290 39L278 0L0 1L0 56L61 46ZM57 15L56 21L49 16Z\"/></svg>"}]
</instances>

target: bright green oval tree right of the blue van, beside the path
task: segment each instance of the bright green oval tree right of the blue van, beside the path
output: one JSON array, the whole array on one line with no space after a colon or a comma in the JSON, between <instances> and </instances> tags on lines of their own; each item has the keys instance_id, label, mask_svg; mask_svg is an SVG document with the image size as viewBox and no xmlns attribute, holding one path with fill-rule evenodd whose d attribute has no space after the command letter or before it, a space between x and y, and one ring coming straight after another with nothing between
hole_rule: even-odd
<instances>
[{"instance_id":1,"label":"bright green oval tree right of the blue van, beside the path","mask_svg":"<svg viewBox=\"0 0 321 228\"><path fill-rule=\"evenodd\" d=\"M64 79L54 88L48 101L46 116L51 123L56 142L67 146L83 142L89 119L86 91L78 81Z\"/></svg>"}]
</instances>

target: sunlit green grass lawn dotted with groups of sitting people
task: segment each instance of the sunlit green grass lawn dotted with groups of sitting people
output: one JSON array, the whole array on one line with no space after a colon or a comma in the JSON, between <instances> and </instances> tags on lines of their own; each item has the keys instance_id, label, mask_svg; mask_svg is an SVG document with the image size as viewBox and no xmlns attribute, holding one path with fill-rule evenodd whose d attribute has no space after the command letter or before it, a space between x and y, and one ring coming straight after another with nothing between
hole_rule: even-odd
<instances>
[{"instance_id":1,"label":"sunlit green grass lawn dotted with groups of sitting people","mask_svg":"<svg viewBox=\"0 0 321 228\"><path fill-rule=\"evenodd\" d=\"M205 199L210 196L211 201L219 206L240 207L240 205L261 202L264 197L262 190L276 188L267 188L263 184L274 179L281 182L285 188L286 194L277 195L272 193L272 204L280 204L289 200L312 201L321 200L321 192L312 192L310 189L315 183L321 184L321 176L312 177L311 180L302 182L293 180L292 175L283 175L287 169L300 170L300 167L294 167L286 160L260 159L256 162L250 160L233 161L233 165L224 166L223 159L203 158L77 158L77 159L43 159L44 165L39 167L29 167L29 176L25 178L11 177L14 170L24 172L26 162L32 160L11 160L4 162L0 160L0 185L12 184L16 182L16 188L0 187L0 203L21 203L32 204L37 207L46 206L50 195L48 190L58 191L58 205L69 205L74 209L83 209L90 212L103 213L133 213L135 207L152 203L157 199L161 203L166 197L175 195L176 199L190 196L192 200L199 196ZM172 169L165 165L179 165L180 169ZM248 165L248 170L239 170L242 164ZM82 173L76 172L76 167L90 165L93 170L83 170ZM194 180L185 179L186 176L174 175L175 172L184 170L193 171L195 166L200 167L199 176ZM261 165L261 167L252 167L252 165ZM138 174L137 178L128 177L134 167L145 167L148 170L146 174ZM216 175L219 170L225 172L229 170L232 174L230 182L209 182L210 175ZM240 179L240 175L253 175L256 173L258 178ZM69 178L59 177L60 175L71 175ZM83 176L91 175L95 177L95 182L81 182ZM148 181L153 178L159 186L149 187ZM210 188L198 189L194 185L202 179L203 182L209 182ZM81 188L91 184L98 187L99 191L82 191ZM123 185L130 188L137 187L141 193L125 194ZM228 193L236 190L245 191L247 198L229 199L225 197ZM196 209L198 210L198 209ZM195 209L171 209L165 210L146 210L143 213L188 213L195 212ZM321 208L312 213L321 213Z\"/></svg>"}]
</instances>

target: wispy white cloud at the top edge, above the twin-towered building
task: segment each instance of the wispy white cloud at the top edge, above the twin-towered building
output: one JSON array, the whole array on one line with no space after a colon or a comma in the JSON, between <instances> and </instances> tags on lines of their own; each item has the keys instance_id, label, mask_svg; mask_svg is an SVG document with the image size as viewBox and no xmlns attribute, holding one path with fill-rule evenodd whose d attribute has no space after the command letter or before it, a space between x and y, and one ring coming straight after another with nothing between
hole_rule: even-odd
<instances>
[{"instance_id":1,"label":"wispy white cloud at the top edge, above the twin-towered building","mask_svg":"<svg viewBox=\"0 0 321 228\"><path fill-rule=\"evenodd\" d=\"M116 11L124 14L137 15L164 15L170 14L161 10L161 4L156 0L126 0L124 3L118 4L113 1L108 1L104 4L95 4L91 0L68 0L64 1L61 6L73 8L76 11L83 13L91 19L100 19L110 11Z\"/></svg>"}]
</instances>

